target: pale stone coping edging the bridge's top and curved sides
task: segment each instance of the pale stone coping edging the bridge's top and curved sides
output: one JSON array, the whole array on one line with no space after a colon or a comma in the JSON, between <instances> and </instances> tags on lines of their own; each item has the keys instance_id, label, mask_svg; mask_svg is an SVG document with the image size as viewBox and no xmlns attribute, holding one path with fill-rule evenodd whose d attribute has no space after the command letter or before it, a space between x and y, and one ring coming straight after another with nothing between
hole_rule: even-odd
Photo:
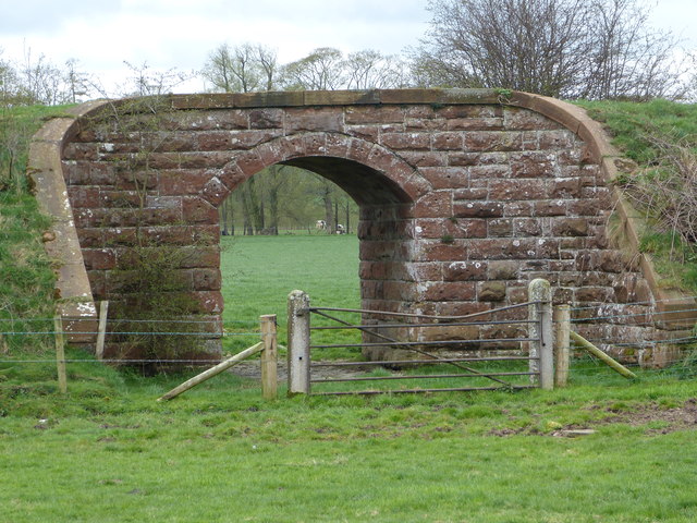
<instances>
[{"instance_id":1,"label":"pale stone coping edging the bridge's top and curved sides","mask_svg":"<svg viewBox=\"0 0 697 523\"><path fill-rule=\"evenodd\" d=\"M57 294L66 318L96 317L96 307L80 250L73 214L62 171L63 148L80 132L82 122L106 108L119 108L134 98L95 100L66 111L65 117L46 123L34 136L29 148L27 172L34 182L40 209L53 218L53 231L46 250L60 266ZM212 110L234 108L284 108L365 105L503 105L538 112L574 132L588 147L589 156L600 163L606 181L612 184L621 173L622 156L611 146L600 123L590 119L583 108L558 99L508 89L370 89L331 92L269 92L246 94L167 95L166 107L174 110ZM616 211L626 243L640 262L653 297L662 312L696 308L695 300L677 289L661 287L653 262L638 251L645 226L640 215L613 187ZM667 302L670 301L670 302ZM681 319L678 314L663 319ZM682 318L684 319L684 318Z\"/></svg>"}]
</instances>

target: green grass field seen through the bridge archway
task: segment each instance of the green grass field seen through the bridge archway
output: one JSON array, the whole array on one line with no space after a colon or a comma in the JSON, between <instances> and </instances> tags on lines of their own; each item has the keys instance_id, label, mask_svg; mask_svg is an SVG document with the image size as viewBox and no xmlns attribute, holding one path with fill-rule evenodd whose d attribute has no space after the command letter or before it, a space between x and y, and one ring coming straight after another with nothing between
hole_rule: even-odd
<instances>
[{"instance_id":1,"label":"green grass field seen through the bridge archway","mask_svg":"<svg viewBox=\"0 0 697 523\"><path fill-rule=\"evenodd\" d=\"M236 333L256 328L262 314L278 316L280 343L285 344L288 295L296 289L307 292L315 306L360 306L355 235L222 236L221 248L223 321L229 335L224 349L229 352L239 352L258 341L256 336ZM318 337L318 341L327 343L357 339L355 332L345 331ZM357 353L346 350L333 355L355 357Z\"/></svg>"}]
</instances>

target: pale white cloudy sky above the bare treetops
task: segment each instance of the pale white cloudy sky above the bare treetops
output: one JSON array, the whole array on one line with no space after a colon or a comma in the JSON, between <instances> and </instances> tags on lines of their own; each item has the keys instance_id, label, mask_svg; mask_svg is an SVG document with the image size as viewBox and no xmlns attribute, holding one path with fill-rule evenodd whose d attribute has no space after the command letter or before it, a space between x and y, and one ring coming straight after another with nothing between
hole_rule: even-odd
<instances>
[{"instance_id":1,"label":"pale white cloudy sky above the bare treetops","mask_svg":"<svg viewBox=\"0 0 697 523\"><path fill-rule=\"evenodd\" d=\"M496 1L496 0L492 0ZM651 23L697 48L697 0L656 4ZM0 0L1 59L76 59L82 71L123 82L124 61L198 70L221 44L264 44L282 63L318 47L393 54L418 44L427 0ZM188 84L199 90L203 84Z\"/></svg>"}]
</instances>

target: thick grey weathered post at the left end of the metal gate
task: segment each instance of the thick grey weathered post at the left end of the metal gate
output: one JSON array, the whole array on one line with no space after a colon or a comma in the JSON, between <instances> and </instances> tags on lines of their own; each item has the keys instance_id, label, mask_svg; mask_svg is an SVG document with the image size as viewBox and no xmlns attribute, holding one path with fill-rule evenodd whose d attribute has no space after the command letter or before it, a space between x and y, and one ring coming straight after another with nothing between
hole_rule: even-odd
<instances>
[{"instance_id":1,"label":"thick grey weathered post at the left end of the metal gate","mask_svg":"<svg viewBox=\"0 0 697 523\"><path fill-rule=\"evenodd\" d=\"M288 296L288 394L309 393L309 296Z\"/></svg>"}]
</instances>

